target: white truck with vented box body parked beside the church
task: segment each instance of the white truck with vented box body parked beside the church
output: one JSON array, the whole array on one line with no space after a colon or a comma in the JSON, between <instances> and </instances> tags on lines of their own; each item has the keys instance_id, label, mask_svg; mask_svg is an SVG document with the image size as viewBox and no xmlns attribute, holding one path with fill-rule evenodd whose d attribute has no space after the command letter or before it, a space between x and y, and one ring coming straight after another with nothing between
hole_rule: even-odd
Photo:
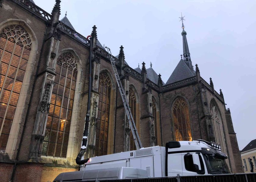
<instances>
[{"instance_id":1,"label":"white truck with vented box body parked beside the church","mask_svg":"<svg viewBox=\"0 0 256 182\"><path fill-rule=\"evenodd\" d=\"M215 145L215 146L214 146ZM227 174L226 154L216 144L200 141L172 141L166 147L147 147L92 157L82 170L134 167L146 170L148 177Z\"/></svg>"}]
</instances>

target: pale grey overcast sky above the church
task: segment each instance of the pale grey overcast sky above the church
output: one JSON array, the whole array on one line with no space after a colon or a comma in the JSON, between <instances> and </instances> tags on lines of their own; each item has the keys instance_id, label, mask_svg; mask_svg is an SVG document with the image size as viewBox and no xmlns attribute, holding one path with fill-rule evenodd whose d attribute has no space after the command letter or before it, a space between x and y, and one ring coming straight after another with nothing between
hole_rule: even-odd
<instances>
[{"instance_id":1,"label":"pale grey overcast sky above the church","mask_svg":"<svg viewBox=\"0 0 256 182\"><path fill-rule=\"evenodd\" d=\"M34 2L49 13L55 4ZM256 139L255 9L255 0L62 0L60 19L67 11L85 37L96 25L98 40L113 55L123 45L129 66L152 62L166 82L183 53L182 12L192 63L208 83L212 77L216 91L222 89L242 150Z\"/></svg>"}]
</instances>

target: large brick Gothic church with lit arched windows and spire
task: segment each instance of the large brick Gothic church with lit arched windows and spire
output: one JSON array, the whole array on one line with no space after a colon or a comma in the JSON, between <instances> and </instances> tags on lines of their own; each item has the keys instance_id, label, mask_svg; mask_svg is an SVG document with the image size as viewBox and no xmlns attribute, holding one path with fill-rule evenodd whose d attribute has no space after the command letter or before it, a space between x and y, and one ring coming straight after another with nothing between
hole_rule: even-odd
<instances>
[{"instance_id":1,"label":"large brick Gothic church with lit arched windows and spire","mask_svg":"<svg viewBox=\"0 0 256 182\"><path fill-rule=\"evenodd\" d=\"M75 159L87 110L90 41L75 31L66 15L59 17L60 0L51 14L33 0L0 0L2 181L52 181L61 172L78 170ZM114 57L142 145L212 140L228 155L231 171L241 173L230 110L212 79L208 84L197 65L194 69L186 36L183 27L183 55L166 83L152 64L146 68L143 62L141 68L131 68L123 46ZM133 150L112 66L95 25L91 39L86 157Z\"/></svg>"}]
</instances>

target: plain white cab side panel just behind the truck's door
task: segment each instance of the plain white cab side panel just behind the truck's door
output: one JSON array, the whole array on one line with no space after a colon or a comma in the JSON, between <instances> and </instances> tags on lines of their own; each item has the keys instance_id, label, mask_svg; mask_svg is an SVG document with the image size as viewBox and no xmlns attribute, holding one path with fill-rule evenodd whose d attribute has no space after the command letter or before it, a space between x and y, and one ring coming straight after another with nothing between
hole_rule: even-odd
<instances>
[{"instance_id":1,"label":"plain white cab side panel just behind the truck's door","mask_svg":"<svg viewBox=\"0 0 256 182\"><path fill-rule=\"evenodd\" d=\"M182 176L182 157L181 153L170 153L168 154L168 176Z\"/></svg>"}]
</instances>

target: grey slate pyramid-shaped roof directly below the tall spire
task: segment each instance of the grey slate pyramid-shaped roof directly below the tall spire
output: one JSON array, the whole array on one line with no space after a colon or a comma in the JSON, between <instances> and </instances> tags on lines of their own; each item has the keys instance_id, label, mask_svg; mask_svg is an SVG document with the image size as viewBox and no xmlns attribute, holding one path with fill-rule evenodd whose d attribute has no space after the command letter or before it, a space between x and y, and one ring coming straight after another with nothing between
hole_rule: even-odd
<instances>
[{"instance_id":1,"label":"grey slate pyramid-shaped roof directly below the tall spire","mask_svg":"<svg viewBox=\"0 0 256 182\"><path fill-rule=\"evenodd\" d=\"M196 75L196 72L193 68L189 67L189 64L187 64L183 59L180 59L180 62L177 64L176 68L173 70L171 76L165 83L170 84L174 83L183 79L187 79L190 77L193 77Z\"/></svg>"}]
</instances>

